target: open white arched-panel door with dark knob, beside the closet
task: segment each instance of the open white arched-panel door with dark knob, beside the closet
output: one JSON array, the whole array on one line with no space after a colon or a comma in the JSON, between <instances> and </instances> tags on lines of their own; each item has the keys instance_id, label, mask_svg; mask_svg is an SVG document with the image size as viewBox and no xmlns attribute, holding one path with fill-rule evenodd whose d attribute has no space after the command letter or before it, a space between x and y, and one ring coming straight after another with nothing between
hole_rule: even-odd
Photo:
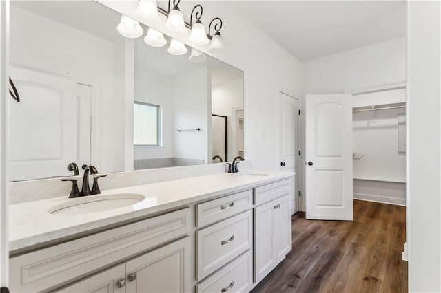
<instances>
[{"instance_id":1,"label":"open white arched-panel door with dark knob, beside the closet","mask_svg":"<svg viewBox=\"0 0 441 293\"><path fill-rule=\"evenodd\" d=\"M307 95L307 219L353 219L351 94Z\"/></svg>"}]
</instances>

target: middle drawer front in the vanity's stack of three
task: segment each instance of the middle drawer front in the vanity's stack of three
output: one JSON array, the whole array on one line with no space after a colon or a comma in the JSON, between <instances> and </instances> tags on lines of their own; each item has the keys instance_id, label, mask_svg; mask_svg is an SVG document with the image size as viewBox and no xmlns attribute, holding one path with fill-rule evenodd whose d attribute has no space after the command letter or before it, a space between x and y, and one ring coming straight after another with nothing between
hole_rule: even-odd
<instances>
[{"instance_id":1,"label":"middle drawer front in the vanity's stack of three","mask_svg":"<svg viewBox=\"0 0 441 293\"><path fill-rule=\"evenodd\" d=\"M196 232L196 278L212 272L252 248L252 213L247 211Z\"/></svg>"}]
</instances>

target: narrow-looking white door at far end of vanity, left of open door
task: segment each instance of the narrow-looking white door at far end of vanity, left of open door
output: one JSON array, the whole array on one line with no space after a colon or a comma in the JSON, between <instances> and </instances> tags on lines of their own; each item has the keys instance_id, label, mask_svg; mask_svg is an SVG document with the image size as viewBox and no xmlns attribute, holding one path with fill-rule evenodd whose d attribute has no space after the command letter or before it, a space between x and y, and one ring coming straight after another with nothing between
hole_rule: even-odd
<instances>
[{"instance_id":1,"label":"narrow-looking white door at far end of vanity, left of open door","mask_svg":"<svg viewBox=\"0 0 441 293\"><path fill-rule=\"evenodd\" d=\"M298 99L280 92L280 170L294 171L296 176L292 182L291 213L300 210L300 102Z\"/></svg>"}]
</instances>

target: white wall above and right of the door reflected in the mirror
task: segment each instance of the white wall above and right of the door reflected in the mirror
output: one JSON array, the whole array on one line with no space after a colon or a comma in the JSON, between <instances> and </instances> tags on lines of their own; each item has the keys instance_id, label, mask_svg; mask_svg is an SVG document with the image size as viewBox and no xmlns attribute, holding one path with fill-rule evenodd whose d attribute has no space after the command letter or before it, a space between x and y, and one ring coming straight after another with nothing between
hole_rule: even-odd
<instances>
[{"instance_id":1,"label":"white wall above and right of the door reflected in the mirror","mask_svg":"<svg viewBox=\"0 0 441 293\"><path fill-rule=\"evenodd\" d=\"M114 43L16 6L11 6L10 26L11 63L71 76L77 83L92 85L91 162L99 171L123 170L124 140L118 127L124 124L123 115L115 115L114 110L122 110L116 107L114 85L123 82L123 78L114 77ZM117 92L121 94L121 90Z\"/></svg>"}]
</instances>

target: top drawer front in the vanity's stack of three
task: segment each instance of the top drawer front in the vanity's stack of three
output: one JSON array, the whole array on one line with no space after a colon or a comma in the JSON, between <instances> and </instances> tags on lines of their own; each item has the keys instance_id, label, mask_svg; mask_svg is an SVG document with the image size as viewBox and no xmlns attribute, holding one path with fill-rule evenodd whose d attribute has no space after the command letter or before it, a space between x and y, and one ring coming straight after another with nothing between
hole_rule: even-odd
<instances>
[{"instance_id":1,"label":"top drawer front in the vanity's stack of three","mask_svg":"<svg viewBox=\"0 0 441 293\"><path fill-rule=\"evenodd\" d=\"M196 226L201 228L249 210L252 207L251 201L252 191L249 190L198 204L196 206Z\"/></svg>"}]
</instances>

